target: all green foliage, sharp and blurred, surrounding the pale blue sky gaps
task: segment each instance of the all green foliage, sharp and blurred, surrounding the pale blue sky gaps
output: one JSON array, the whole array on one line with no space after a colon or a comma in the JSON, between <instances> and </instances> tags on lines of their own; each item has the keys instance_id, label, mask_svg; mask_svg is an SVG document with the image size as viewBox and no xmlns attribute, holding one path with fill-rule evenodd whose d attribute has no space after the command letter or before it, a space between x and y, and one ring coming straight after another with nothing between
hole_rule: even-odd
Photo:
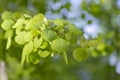
<instances>
[{"instance_id":1,"label":"all green foliage, sharp and blurred, surrounding the pale blue sky gaps","mask_svg":"<svg viewBox=\"0 0 120 80\"><path fill-rule=\"evenodd\" d=\"M48 4L52 1L55 5L64 3L52 9L54 5ZM67 18L69 15L64 10L71 10L69 0L0 0L0 59L7 64L9 80L120 79L115 72L116 66L108 64L107 55L114 52L119 61L117 0L83 0L81 6L85 13L99 21L102 33L95 39L86 40L83 30L69 22L78 18L86 21L88 17L80 14ZM70 20L46 19L47 11L59 15L63 11L62 18ZM92 23L94 20L87 20L88 25Z\"/></svg>"}]
</instances>

